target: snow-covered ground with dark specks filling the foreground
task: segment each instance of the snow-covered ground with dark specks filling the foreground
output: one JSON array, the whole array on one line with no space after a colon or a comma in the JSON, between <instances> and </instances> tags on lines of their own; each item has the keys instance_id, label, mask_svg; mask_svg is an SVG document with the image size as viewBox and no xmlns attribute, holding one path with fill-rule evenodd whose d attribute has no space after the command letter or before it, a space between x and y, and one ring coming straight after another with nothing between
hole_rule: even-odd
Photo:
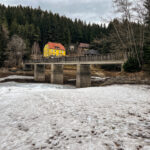
<instances>
[{"instance_id":1,"label":"snow-covered ground with dark specks filling the foreground","mask_svg":"<svg viewBox=\"0 0 150 150\"><path fill-rule=\"evenodd\" d=\"M0 83L0 150L150 150L150 86Z\"/></svg>"}]
</instances>

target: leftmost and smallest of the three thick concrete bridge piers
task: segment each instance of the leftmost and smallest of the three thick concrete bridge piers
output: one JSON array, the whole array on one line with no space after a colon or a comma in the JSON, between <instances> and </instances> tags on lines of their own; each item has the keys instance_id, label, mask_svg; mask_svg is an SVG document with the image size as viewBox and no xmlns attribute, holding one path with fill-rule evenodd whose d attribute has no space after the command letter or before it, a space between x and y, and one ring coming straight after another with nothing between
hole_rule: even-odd
<instances>
[{"instance_id":1,"label":"leftmost and smallest of the three thick concrete bridge piers","mask_svg":"<svg viewBox=\"0 0 150 150\"><path fill-rule=\"evenodd\" d=\"M45 65L35 64L34 66L34 80L35 81L45 81Z\"/></svg>"}]
</instances>

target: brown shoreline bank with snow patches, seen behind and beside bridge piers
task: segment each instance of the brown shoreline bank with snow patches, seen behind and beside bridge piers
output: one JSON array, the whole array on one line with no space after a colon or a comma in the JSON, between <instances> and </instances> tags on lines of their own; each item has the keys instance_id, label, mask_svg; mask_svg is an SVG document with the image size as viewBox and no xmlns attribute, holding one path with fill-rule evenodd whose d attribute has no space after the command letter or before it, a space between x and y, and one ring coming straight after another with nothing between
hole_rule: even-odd
<instances>
[{"instance_id":1,"label":"brown shoreline bank with snow patches, seen behind and beside bridge piers","mask_svg":"<svg viewBox=\"0 0 150 150\"><path fill-rule=\"evenodd\" d=\"M67 68L64 71L64 84L63 85L76 85L76 73L74 69ZM18 83L50 83L48 76L46 76L45 82L34 81L33 71L19 70L17 72L8 71L7 69L0 71L0 79L6 78L0 83L4 82L18 82ZM50 75L50 74L48 74ZM9 76L16 76L16 78L9 78ZM23 76L24 78L17 78L17 76ZM119 72L105 72L104 70L93 71L91 73L91 87L101 87L109 85L150 85L150 75L146 72L139 73L120 73Z\"/></svg>"}]
</instances>

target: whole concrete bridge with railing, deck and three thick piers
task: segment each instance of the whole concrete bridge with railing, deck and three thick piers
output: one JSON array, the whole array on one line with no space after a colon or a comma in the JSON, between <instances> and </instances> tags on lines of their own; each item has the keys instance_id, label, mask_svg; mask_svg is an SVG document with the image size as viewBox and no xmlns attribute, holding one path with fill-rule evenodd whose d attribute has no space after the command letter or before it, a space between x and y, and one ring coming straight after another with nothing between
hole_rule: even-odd
<instances>
[{"instance_id":1,"label":"whole concrete bridge with railing, deck and three thick piers","mask_svg":"<svg viewBox=\"0 0 150 150\"><path fill-rule=\"evenodd\" d=\"M63 84L63 66L77 65L76 87L90 87L91 73L90 65L121 65L127 60L126 53L115 53L98 56L77 56L77 57L57 57L57 58L42 58L37 60L27 60L24 65L34 65L35 81L45 81L45 65L51 65L51 83Z\"/></svg>"}]
</instances>

